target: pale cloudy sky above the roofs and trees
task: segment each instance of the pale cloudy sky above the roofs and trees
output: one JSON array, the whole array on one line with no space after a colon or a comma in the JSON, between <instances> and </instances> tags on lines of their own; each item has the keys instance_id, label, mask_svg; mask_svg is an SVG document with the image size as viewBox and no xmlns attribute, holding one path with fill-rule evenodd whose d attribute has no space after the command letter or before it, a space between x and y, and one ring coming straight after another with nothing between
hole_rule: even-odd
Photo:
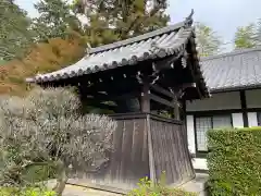
<instances>
[{"instance_id":1,"label":"pale cloudy sky above the roofs and trees","mask_svg":"<svg viewBox=\"0 0 261 196\"><path fill-rule=\"evenodd\" d=\"M37 16L33 5L35 2L37 0L16 0L30 16ZM261 0L169 0L169 4L167 13L172 24L183 21L194 9L194 21L212 27L224 42L234 39L238 26L261 19ZM225 47L227 49L232 46Z\"/></svg>"}]
</instances>

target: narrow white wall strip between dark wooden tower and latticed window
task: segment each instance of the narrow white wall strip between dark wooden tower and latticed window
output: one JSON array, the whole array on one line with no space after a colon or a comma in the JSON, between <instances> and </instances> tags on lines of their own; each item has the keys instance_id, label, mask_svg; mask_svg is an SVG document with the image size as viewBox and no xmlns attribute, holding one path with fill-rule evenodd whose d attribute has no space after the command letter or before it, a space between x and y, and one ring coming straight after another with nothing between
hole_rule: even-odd
<instances>
[{"instance_id":1,"label":"narrow white wall strip between dark wooden tower and latticed window","mask_svg":"<svg viewBox=\"0 0 261 196\"><path fill-rule=\"evenodd\" d=\"M187 138L188 149L191 154L196 154L195 130L194 130L194 115L187 115Z\"/></svg>"}]
</instances>

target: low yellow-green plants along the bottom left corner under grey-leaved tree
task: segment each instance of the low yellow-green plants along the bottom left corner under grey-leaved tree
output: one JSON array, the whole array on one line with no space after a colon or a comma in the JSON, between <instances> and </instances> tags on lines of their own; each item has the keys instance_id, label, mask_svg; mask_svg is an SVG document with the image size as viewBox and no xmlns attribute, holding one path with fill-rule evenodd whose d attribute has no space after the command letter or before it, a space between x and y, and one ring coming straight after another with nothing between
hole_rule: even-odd
<instances>
[{"instance_id":1,"label":"low yellow-green plants along the bottom left corner under grey-leaved tree","mask_svg":"<svg viewBox=\"0 0 261 196\"><path fill-rule=\"evenodd\" d=\"M1 187L0 196L55 196L54 192L47 191L46 188L13 188Z\"/></svg>"}]
</instances>

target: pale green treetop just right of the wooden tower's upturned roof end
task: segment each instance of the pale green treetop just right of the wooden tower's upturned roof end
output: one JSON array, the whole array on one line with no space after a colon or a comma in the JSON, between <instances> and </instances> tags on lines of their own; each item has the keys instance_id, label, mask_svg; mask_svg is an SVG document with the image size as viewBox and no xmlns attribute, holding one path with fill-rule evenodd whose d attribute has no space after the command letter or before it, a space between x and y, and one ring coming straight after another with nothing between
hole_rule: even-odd
<instances>
[{"instance_id":1,"label":"pale green treetop just right of the wooden tower's upturned roof end","mask_svg":"<svg viewBox=\"0 0 261 196\"><path fill-rule=\"evenodd\" d=\"M202 23L196 23L196 42L201 57L219 53L222 45L222 40L216 33Z\"/></svg>"}]
</instances>

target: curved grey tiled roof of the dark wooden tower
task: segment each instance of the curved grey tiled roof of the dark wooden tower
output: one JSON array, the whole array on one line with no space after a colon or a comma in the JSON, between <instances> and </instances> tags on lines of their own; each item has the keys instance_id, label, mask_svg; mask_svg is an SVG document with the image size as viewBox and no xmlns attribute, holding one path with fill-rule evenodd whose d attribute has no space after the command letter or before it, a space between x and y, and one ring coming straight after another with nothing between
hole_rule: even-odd
<instances>
[{"instance_id":1,"label":"curved grey tiled roof of the dark wooden tower","mask_svg":"<svg viewBox=\"0 0 261 196\"><path fill-rule=\"evenodd\" d=\"M48 82L80 76L116 66L137 64L154 58L178 53L194 35L191 19L138 37L90 49L88 56L62 70L38 74L34 82Z\"/></svg>"}]
</instances>

